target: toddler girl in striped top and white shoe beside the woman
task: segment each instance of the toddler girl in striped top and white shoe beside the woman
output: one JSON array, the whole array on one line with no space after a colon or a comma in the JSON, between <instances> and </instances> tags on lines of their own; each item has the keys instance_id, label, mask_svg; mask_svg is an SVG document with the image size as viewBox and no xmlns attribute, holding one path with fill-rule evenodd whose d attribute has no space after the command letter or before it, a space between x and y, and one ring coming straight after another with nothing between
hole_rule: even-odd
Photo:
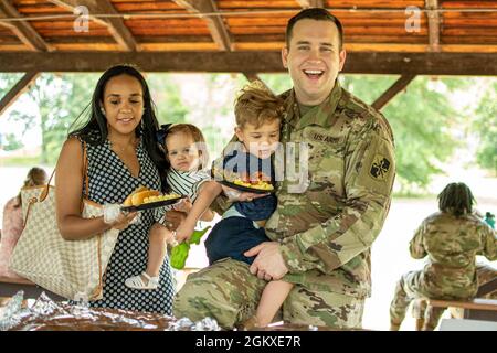
<instances>
[{"instance_id":1,"label":"toddler girl in striped top and white shoe beside the woman","mask_svg":"<svg viewBox=\"0 0 497 353\"><path fill-rule=\"evenodd\" d=\"M210 180L203 171L208 163L205 139L202 132L193 125L177 124L165 125L158 132L158 142L163 146L166 158L171 168L168 171L167 182L172 192L188 195L188 199L175 205L175 210L188 213L195 201L200 186ZM166 207L166 211L170 210ZM202 221L212 221L214 214L204 210ZM147 269L140 275L133 276L125 285L133 289L156 289L159 284L159 270L167 254L167 243L172 240L172 233L163 224L166 216L156 223L149 233L149 248ZM194 227L194 225L193 225Z\"/></svg>"}]
</instances>

